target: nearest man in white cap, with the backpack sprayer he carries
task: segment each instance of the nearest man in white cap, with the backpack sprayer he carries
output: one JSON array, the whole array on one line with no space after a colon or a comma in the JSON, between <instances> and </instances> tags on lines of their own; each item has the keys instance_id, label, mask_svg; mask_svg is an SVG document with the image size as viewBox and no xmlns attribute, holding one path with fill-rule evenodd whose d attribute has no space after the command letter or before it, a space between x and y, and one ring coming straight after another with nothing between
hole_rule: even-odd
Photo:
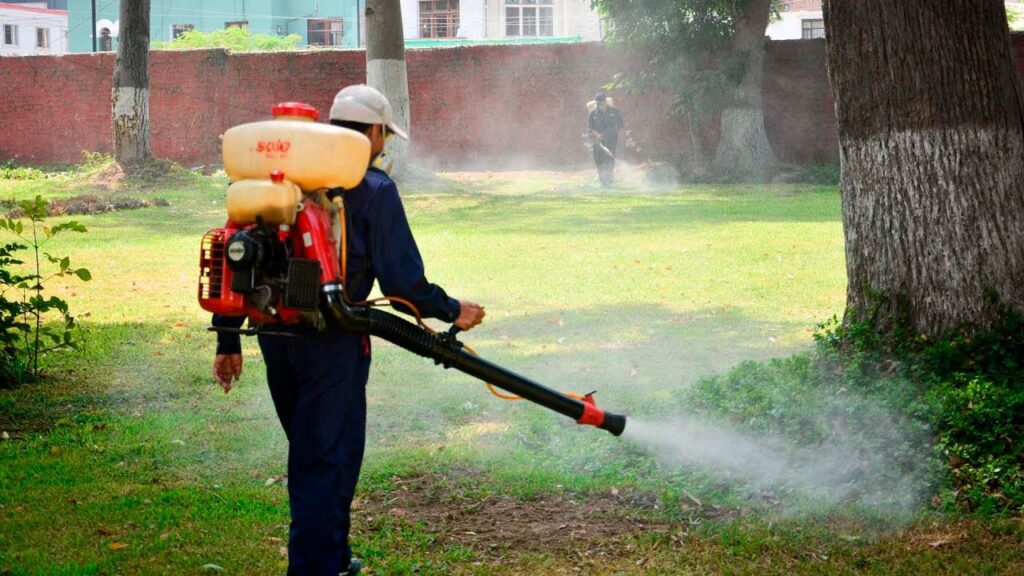
<instances>
[{"instance_id":1,"label":"nearest man in white cap, with the backpack sprayer he carries","mask_svg":"<svg viewBox=\"0 0 1024 576\"><path fill-rule=\"evenodd\" d=\"M331 125L286 102L274 120L224 133L227 222L203 238L199 300L218 332L214 375L229 390L242 373L239 334L255 334L289 439L290 575L357 574L349 507L362 460L369 335L477 377L581 424L618 436L622 415L592 395L564 395L478 358L456 338L482 306L427 282L394 182L370 168L389 133L387 99L349 86ZM386 294L367 300L374 281ZM377 310L381 303L417 324ZM422 318L452 322L436 333ZM245 319L249 327L242 328Z\"/></svg>"}]
</instances>

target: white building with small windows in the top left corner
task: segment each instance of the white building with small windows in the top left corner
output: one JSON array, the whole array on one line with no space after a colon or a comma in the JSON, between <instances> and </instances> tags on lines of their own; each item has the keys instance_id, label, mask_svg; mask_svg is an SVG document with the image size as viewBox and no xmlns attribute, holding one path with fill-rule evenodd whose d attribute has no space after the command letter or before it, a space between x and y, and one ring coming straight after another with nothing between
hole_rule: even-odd
<instances>
[{"instance_id":1,"label":"white building with small windows in the top left corner","mask_svg":"<svg viewBox=\"0 0 1024 576\"><path fill-rule=\"evenodd\" d=\"M0 55L62 54L68 51L68 12L46 2L0 3Z\"/></svg>"}]
</instances>

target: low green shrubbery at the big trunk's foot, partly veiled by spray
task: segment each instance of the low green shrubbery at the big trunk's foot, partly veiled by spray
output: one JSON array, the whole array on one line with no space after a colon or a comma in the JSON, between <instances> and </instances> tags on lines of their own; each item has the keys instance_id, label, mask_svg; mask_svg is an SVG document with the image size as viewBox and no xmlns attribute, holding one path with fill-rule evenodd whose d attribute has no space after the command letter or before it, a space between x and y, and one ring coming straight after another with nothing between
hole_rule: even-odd
<instances>
[{"instance_id":1,"label":"low green shrubbery at the big trunk's foot, partly veiled by spray","mask_svg":"<svg viewBox=\"0 0 1024 576\"><path fill-rule=\"evenodd\" d=\"M866 324L819 327L814 351L743 363L679 399L800 446L839 438L885 458L877 490L910 487L942 507L1024 510L1024 319L983 334L879 336Z\"/></svg>"}]
</instances>

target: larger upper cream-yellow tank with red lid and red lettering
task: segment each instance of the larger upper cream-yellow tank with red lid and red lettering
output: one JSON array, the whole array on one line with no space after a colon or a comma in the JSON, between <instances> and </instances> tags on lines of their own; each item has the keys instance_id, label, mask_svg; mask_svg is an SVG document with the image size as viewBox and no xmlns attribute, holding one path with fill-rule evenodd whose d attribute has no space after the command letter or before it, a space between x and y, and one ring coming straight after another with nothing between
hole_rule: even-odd
<instances>
[{"instance_id":1,"label":"larger upper cream-yellow tank with red lid and red lettering","mask_svg":"<svg viewBox=\"0 0 1024 576\"><path fill-rule=\"evenodd\" d=\"M351 189L370 164L370 140L354 130L315 122L315 108L285 102L274 120L224 132L224 171L231 181L266 178L281 170L304 192Z\"/></svg>"}]
</instances>

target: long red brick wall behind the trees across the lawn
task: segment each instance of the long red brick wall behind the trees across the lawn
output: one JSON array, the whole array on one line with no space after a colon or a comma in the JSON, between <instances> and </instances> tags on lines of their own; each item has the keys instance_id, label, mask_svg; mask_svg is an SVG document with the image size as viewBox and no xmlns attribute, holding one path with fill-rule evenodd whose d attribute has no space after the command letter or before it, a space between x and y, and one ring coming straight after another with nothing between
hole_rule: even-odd
<instances>
[{"instance_id":1,"label":"long red brick wall behind the trees across the lawn","mask_svg":"<svg viewBox=\"0 0 1024 576\"><path fill-rule=\"evenodd\" d=\"M585 104L629 60L595 43L411 50L407 58L413 154L439 167L489 169L586 165ZM365 71L357 50L155 51L154 152L185 165L217 164L228 127L266 118L283 100L307 101L326 116L334 93L361 82ZM76 162L82 151L111 152L113 72L112 53L0 58L0 159ZM636 145L625 158L689 154L685 123L668 114L670 97L612 95ZM781 160L837 161L823 41L769 43L764 101Z\"/></svg>"}]
</instances>

